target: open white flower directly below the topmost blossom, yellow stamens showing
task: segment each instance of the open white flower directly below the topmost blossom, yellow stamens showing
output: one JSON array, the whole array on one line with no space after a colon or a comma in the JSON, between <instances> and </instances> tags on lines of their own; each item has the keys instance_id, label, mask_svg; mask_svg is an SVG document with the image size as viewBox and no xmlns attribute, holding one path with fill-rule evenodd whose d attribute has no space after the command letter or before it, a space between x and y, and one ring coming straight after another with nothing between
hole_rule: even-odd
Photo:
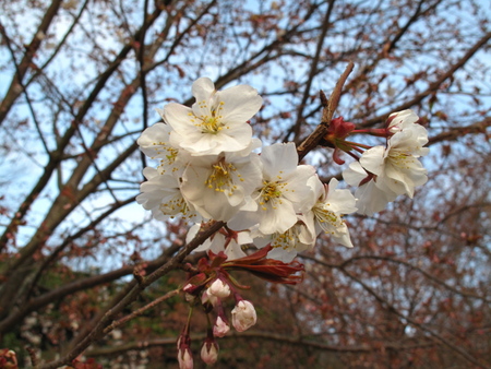
<instances>
[{"instance_id":1,"label":"open white flower directly below the topmost blossom, yellow stamens showing","mask_svg":"<svg viewBox=\"0 0 491 369\"><path fill-rule=\"evenodd\" d=\"M227 222L246 204L261 179L258 154L199 156L185 168L181 191L204 217Z\"/></svg>"}]
</instances>

